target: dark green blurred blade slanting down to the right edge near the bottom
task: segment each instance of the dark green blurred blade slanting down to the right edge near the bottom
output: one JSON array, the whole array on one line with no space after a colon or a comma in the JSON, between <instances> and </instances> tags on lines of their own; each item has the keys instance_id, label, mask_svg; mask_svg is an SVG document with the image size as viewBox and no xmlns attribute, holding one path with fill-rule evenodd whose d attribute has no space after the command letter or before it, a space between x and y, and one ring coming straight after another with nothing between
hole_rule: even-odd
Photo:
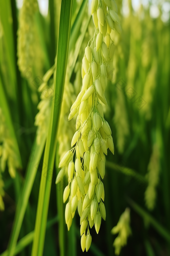
<instances>
[{"instance_id":1,"label":"dark green blurred blade slanting down to the right edge near the bottom","mask_svg":"<svg viewBox=\"0 0 170 256\"><path fill-rule=\"evenodd\" d=\"M147 219L147 221L150 222L152 227L162 236L165 240L168 242L170 241L170 233L162 227L157 220L155 220L149 213L147 213L145 210L143 210L138 204L136 204L133 200L130 198L126 198L129 205L143 218Z\"/></svg>"}]
</instances>

